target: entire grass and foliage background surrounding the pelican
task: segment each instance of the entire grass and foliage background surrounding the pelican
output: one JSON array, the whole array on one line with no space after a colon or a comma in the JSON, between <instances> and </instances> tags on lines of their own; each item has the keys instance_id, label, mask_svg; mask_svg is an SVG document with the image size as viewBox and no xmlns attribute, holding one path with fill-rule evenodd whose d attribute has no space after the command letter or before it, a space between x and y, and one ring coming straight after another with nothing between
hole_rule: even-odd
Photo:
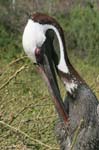
<instances>
[{"instance_id":1,"label":"entire grass and foliage background surrounding the pelican","mask_svg":"<svg viewBox=\"0 0 99 150\"><path fill-rule=\"evenodd\" d=\"M23 29L36 11L61 24L72 64L99 98L98 0L0 0L0 150L59 149L57 113L22 48ZM61 83L60 90L64 96Z\"/></svg>"}]
</instances>

